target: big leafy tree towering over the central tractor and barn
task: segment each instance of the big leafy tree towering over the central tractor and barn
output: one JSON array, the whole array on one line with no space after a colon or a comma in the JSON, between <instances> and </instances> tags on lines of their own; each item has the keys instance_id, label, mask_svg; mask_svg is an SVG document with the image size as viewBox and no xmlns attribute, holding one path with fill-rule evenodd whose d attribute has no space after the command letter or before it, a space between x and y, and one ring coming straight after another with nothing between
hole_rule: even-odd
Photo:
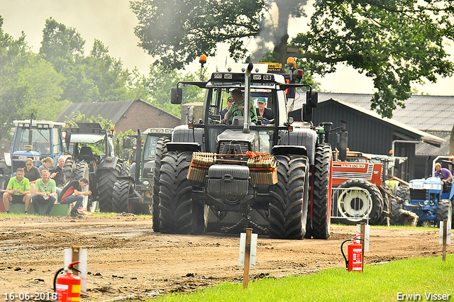
<instances>
[{"instance_id":1,"label":"big leafy tree towering over the central tractor and barn","mask_svg":"<svg viewBox=\"0 0 454 302\"><path fill-rule=\"evenodd\" d=\"M277 23L265 11L275 4ZM142 0L132 1L140 46L168 68L181 68L201 54L214 55L228 43L235 60L246 43L272 43L279 62L287 58L288 20L303 16L304 0ZM448 0L318 0L310 30L292 40L294 57L318 74L344 63L373 79L372 109L391 117L411 93L411 84L453 74L445 42L453 40L454 4ZM260 55L269 52L268 49ZM260 57L259 55L259 57Z\"/></svg>"}]
</instances>

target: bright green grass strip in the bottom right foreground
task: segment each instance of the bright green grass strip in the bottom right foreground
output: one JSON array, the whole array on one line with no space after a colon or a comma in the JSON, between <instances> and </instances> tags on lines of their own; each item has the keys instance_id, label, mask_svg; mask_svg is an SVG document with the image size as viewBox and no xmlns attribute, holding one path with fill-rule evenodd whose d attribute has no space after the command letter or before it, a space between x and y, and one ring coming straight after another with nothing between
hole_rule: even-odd
<instances>
[{"instance_id":1,"label":"bright green grass strip in the bottom right foreground","mask_svg":"<svg viewBox=\"0 0 454 302\"><path fill-rule=\"evenodd\" d=\"M362 273L326 269L307 276L267 278L243 284L223 283L196 293L175 293L153 301L397 301L398 293L450 294L454 301L454 255L404 259L370 265ZM409 301L406 299L405 301Z\"/></svg>"}]
</instances>

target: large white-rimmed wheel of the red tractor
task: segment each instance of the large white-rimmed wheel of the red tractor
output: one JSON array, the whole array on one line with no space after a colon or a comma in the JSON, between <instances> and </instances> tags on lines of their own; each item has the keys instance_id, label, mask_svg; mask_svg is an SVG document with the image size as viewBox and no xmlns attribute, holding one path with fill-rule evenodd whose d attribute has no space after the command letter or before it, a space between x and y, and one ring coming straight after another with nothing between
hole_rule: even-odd
<instances>
[{"instance_id":1,"label":"large white-rimmed wheel of the red tractor","mask_svg":"<svg viewBox=\"0 0 454 302\"><path fill-rule=\"evenodd\" d=\"M366 223L367 216L370 224L380 222L383 212L383 196L375 184L364 179L349 179L344 181L339 188L343 189L366 189L371 196L371 203L367 195L362 191L345 190L337 198L338 211L341 213L346 224Z\"/></svg>"}]
</instances>

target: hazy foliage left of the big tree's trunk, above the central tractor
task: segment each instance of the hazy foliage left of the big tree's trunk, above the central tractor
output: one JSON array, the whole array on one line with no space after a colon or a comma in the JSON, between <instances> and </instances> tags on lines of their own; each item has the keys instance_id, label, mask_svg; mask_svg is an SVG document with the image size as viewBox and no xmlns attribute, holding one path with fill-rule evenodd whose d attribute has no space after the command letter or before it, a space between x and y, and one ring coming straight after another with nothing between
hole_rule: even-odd
<instances>
[{"instance_id":1,"label":"hazy foliage left of the big tree's trunk, above the central tractor","mask_svg":"<svg viewBox=\"0 0 454 302\"><path fill-rule=\"evenodd\" d=\"M247 52L244 38L258 35L265 0L131 1L138 17L135 35L166 69L182 69L199 55L213 56L216 43L228 43L234 60Z\"/></svg>"}]
</instances>

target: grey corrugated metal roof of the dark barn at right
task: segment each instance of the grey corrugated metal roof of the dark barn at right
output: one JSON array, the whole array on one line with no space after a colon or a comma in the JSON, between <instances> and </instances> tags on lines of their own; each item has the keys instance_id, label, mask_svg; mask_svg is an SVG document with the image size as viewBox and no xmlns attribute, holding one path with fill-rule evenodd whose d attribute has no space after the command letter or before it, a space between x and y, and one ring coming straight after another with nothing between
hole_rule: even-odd
<instances>
[{"instance_id":1,"label":"grey corrugated metal roof of the dark barn at right","mask_svg":"<svg viewBox=\"0 0 454 302\"><path fill-rule=\"evenodd\" d=\"M372 94L319 93L319 102L328 99L337 99L370 110ZM301 108L303 101L306 101L305 97L296 102L295 108ZM405 101L405 108L397 106L393 111L392 119L423 131L450 131L454 125L454 96L410 96Z\"/></svg>"}]
</instances>

